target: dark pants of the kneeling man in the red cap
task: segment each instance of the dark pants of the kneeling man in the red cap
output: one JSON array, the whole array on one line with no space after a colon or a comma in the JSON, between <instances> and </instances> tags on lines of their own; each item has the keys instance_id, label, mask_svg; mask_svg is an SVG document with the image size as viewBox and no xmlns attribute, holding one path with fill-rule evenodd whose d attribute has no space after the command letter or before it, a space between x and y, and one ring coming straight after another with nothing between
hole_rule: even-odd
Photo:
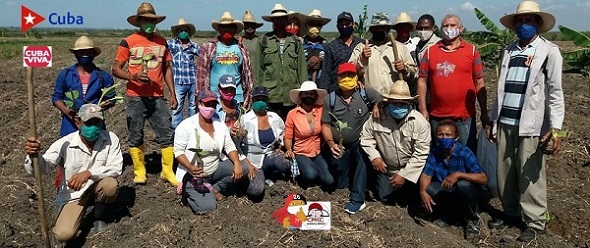
<instances>
[{"instance_id":1,"label":"dark pants of the kneeling man in the red cap","mask_svg":"<svg viewBox=\"0 0 590 248\"><path fill-rule=\"evenodd\" d=\"M329 161L336 187L343 189L348 186L350 200L364 202L367 189L367 164L370 162L365 153L361 151L360 141L344 145L344 154L340 159L336 159L332 155L328 146L324 146L324 154L326 160Z\"/></svg>"}]
</instances>

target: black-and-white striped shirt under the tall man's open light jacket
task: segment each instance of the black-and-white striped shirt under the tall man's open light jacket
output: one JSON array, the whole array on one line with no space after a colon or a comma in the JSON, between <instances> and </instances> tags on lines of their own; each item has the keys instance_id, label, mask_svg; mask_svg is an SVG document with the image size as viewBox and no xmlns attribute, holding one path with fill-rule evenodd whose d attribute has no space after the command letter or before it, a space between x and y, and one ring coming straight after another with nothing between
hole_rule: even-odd
<instances>
[{"instance_id":1,"label":"black-and-white striped shirt under the tall man's open light jacket","mask_svg":"<svg viewBox=\"0 0 590 248\"><path fill-rule=\"evenodd\" d=\"M504 100L500 111L499 122L510 126L518 126L524 104L527 84L530 75L530 65L535 56L539 39L535 39L526 47L514 46L508 53L508 72L504 87Z\"/></svg>"}]
</instances>

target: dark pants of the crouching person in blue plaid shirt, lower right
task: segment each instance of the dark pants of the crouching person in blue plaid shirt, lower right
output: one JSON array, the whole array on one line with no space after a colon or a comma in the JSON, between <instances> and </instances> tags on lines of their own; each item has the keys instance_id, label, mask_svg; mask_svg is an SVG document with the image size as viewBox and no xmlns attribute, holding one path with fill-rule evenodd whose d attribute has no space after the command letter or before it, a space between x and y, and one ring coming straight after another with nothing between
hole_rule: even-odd
<instances>
[{"instance_id":1,"label":"dark pants of the crouching person in blue plaid shirt, lower right","mask_svg":"<svg viewBox=\"0 0 590 248\"><path fill-rule=\"evenodd\" d=\"M467 218L468 220L477 220L479 217L477 216L477 191L475 189L477 185L473 185L472 183L470 183L469 181L466 180L460 180L457 181L457 183L455 184L455 186L453 188L447 189L444 188L442 186L441 182L435 182L432 181L430 183L430 185L428 185L428 188L426 189L426 192L430 195L430 197L433 198L434 202L438 202L440 200L443 201L447 201L448 203L452 203L452 206L454 207L454 212L460 212L463 214L463 216L465 218ZM444 196L442 196L442 194L439 195L439 193L441 192L447 192L447 193L451 193L448 194L447 196L450 196L450 198L446 198ZM442 198L442 199L441 199ZM460 205L458 206L457 204L455 204L456 202L460 203ZM451 205L451 204L447 204L447 205ZM461 211L456 211L456 207L462 208ZM451 211L451 209L448 209L449 211Z\"/></svg>"}]
</instances>

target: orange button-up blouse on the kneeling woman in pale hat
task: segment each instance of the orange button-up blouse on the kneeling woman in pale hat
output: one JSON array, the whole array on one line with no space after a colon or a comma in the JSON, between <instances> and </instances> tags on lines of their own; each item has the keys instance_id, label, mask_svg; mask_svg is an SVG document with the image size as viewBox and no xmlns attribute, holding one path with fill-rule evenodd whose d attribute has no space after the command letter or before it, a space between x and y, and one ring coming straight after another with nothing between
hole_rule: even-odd
<instances>
[{"instance_id":1,"label":"orange button-up blouse on the kneeling woman in pale hat","mask_svg":"<svg viewBox=\"0 0 590 248\"><path fill-rule=\"evenodd\" d=\"M293 139L295 136L295 145L293 152L307 157L315 157L320 154L320 141L322 133L322 111L321 105L314 105L311 113L314 117L314 129L305 117L305 110L296 107L289 111L285 121L285 139Z\"/></svg>"}]
</instances>

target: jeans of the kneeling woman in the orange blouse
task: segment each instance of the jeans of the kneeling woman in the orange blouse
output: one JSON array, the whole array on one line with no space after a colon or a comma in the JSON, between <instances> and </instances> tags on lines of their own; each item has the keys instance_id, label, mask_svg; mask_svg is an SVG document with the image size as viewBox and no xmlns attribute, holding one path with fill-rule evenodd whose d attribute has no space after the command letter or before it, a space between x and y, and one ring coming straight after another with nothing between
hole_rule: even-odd
<instances>
[{"instance_id":1,"label":"jeans of the kneeling woman in the orange blouse","mask_svg":"<svg viewBox=\"0 0 590 248\"><path fill-rule=\"evenodd\" d=\"M308 183L318 182L320 185L328 186L334 183L334 178L328 170L328 164L322 154L315 157L295 154L295 160L299 166L301 179Z\"/></svg>"}]
</instances>

